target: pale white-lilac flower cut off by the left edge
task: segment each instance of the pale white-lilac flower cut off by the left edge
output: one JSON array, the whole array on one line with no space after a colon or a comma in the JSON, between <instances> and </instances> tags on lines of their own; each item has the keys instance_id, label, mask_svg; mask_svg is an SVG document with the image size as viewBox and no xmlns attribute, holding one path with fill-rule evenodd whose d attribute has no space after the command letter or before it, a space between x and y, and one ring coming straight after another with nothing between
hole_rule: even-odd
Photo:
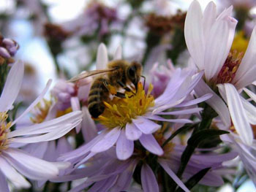
<instances>
[{"instance_id":1,"label":"pale white-lilac flower cut off by the left edge","mask_svg":"<svg viewBox=\"0 0 256 192\"><path fill-rule=\"evenodd\" d=\"M13 122L7 122L7 112L12 108L20 91L23 70L22 62L17 62L12 66L0 97L0 183L1 191L4 192L9 191L7 180L10 180L16 187L26 188L30 186L30 183L25 180L23 175L31 180L48 180L56 177L59 174L59 169L67 168L69 164L44 161L18 149L18 147L28 143L58 139L81 121L81 112L72 112L45 123L10 131L10 128L18 120L23 118L31 108L34 108L50 86L49 81L42 93L19 118Z\"/></svg>"}]
</instances>

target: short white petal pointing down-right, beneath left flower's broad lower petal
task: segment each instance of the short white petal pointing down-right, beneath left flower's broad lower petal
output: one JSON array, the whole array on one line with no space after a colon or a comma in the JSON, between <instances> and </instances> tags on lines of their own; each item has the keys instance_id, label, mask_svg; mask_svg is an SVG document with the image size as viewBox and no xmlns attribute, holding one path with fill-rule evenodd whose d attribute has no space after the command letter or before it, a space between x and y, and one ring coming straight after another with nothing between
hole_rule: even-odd
<instances>
[{"instance_id":1,"label":"short white petal pointing down-right, beneath left flower's broad lower petal","mask_svg":"<svg viewBox=\"0 0 256 192\"><path fill-rule=\"evenodd\" d=\"M16 188L29 188L31 186L30 183L3 158L0 158L0 164L1 172L5 174L7 179L10 180Z\"/></svg>"}]
</instances>

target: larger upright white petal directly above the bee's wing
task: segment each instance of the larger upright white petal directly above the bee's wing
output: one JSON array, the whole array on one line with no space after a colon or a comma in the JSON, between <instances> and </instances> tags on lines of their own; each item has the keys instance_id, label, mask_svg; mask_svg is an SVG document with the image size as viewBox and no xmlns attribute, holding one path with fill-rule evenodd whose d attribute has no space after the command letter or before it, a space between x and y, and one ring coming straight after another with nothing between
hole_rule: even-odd
<instances>
[{"instance_id":1,"label":"larger upright white petal directly above the bee's wing","mask_svg":"<svg viewBox=\"0 0 256 192\"><path fill-rule=\"evenodd\" d=\"M106 69L108 64L108 50L107 47L101 43L97 51L96 69Z\"/></svg>"}]
</instances>

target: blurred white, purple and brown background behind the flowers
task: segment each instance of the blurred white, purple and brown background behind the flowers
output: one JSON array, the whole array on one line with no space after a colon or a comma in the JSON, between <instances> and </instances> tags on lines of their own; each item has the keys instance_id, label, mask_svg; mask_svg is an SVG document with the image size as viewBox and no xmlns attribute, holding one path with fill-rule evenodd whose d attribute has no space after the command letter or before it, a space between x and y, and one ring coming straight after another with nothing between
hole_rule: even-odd
<instances>
[{"instance_id":1,"label":"blurred white, purple and brown background behind the flowers","mask_svg":"<svg viewBox=\"0 0 256 192\"><path fill-rule=\"evenodd\" d=\"M203 9L209 2L198 1ZM238 34L242 31L244 38L238 39L238 47L246 46L255 26L255 1L214 1L219 12L233 4L235 18L240 23ZM155 62L167 58L171 58L175 65L186 66L189 54L183 28L191 2L1 0L1 34L18 42L20 48L15 60L26 63L20 100L33 101L48 79L53 79L54 85L56 80L67 80L83 70L95 69L97 47L101 42L107 45L110 58L121 45L124 58L142 62L144 72L148 72ZM157 23L157 17L170 20ZM238 176L242 185L234 187L227 182L219 191L256 191L246 175Z\"/></svg>"}]
</instances>

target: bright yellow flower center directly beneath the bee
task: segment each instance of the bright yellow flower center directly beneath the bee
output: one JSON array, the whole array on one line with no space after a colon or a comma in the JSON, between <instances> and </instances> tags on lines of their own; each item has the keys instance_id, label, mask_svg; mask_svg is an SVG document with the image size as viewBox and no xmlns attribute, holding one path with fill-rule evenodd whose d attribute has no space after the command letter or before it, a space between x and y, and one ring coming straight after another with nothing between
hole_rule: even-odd
<instances>
[{"instance_id":1,"label":"bright yellow flower center directly beneath the bee","mask_svg":"<svg viewBox=\"0 0 256 192\"><path fill-rule=\"evenodd\" d=\"M148 108L154 106L154 97L151 96L153 85L149 85L148 92L145 93L142 83L138 84L137 93L125 93L125 98L114 97L112 100L104 102L105 110L99 115L99 120L107 128L123 128L127 123L137 116L144 115Z\"/></svg>"}]
</instances>

